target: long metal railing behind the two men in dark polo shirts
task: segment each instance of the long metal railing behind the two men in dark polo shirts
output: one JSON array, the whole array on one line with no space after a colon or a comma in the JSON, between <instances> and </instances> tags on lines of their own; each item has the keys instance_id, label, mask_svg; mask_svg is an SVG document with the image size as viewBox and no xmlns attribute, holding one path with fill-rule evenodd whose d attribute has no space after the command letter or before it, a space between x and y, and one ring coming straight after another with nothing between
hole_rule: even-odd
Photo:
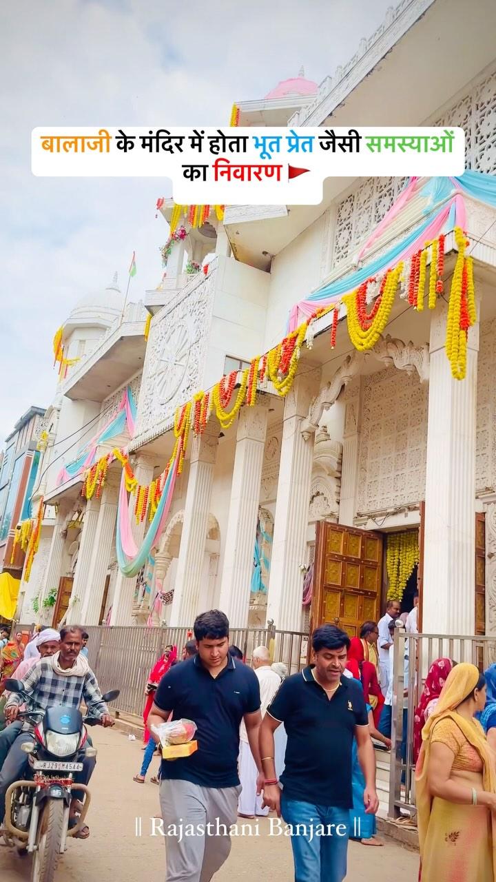
<instances>
[{"instance_id":1,"label":"long metal railing behind the two men in dark polo shirts","mask_svg":"<svg viewBox=\"0 0 496 882\"><path fill-rule=\"evenodd\" d=\"M88 625L88 655L101 691L120 689L112 704L121 713L141 716L145 703L147 677L166 646L177 646L181 657L191 628L148 628L147 626L111 628ZM265 646L274 662L284 662L288 674L305 666L308 634L268 628L233 628L229 643L241 649L247 664L256 647Z\"/></svg>"}]
</instances>

